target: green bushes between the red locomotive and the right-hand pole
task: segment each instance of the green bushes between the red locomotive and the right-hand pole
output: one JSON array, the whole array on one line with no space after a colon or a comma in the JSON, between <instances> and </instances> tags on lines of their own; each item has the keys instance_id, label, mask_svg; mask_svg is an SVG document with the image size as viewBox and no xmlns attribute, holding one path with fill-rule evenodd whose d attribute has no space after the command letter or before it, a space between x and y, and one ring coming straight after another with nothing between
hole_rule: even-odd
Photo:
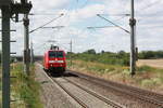
<instances>
[{"instance_id":1,"label":"green bushes between the red locomotive and the right-hand pole","mask_svg":"<svg viewBox=\"0 0 163 108\"><path fill-rule=\"evenodd\" d=\"M95 50L88 50L84 53L72 53L67 54L67 58L72 56L73 59L82 59L85 62L98 62L102 64L109 65L121 65L121 66L129 66L129 54L121 51L118 53L111 52L101 52L96 53Z\"/></svg>"}]
</instances>

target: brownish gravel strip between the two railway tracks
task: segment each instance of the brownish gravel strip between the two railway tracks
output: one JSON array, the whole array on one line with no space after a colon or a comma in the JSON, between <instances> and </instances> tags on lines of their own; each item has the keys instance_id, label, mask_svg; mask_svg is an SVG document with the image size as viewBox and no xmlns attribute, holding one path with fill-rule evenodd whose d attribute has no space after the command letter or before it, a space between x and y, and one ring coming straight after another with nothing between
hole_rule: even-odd
<instances>
[{"instance_id":1,"label":"brownish gravel strip between the two railway tracks","mask_svg":"<svg viewBox=\"0 0 163 108\"><path fill-rule=\"evenodd\" d=\"M99 84L95 84L92 82L89 82L87 80L84 80L82 78L77 78L77 77L67 77L71 81L74 81L76 83L79 83L83 86L87 86L90 90L108 97L109 99L115 100L124 106L126 106L127 108L158 108L154 105L151 105L149 103L145 103L142 100L139 100L135 97L115 92L113 90L109 90L108 87L104 87L102 85Z\"/></svg>"}]
</instances>

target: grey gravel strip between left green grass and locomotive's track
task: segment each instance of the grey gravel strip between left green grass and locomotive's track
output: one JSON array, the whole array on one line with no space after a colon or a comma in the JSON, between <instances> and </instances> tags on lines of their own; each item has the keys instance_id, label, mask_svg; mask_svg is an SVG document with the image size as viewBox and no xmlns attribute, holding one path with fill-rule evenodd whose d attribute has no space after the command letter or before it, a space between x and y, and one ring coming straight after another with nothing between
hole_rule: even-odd
<instances>
[{"instance_id":1,"label":"grey gravel strip between left green grass and locomotive's track","mask_svg":"<svg viewBox=\"0 0 163 108\"><path fill-rule=\"evenodd\" d=\"M36 80L41 84L41 100L43 108L77 108L70 102L66 96L57 85L54 85L43 73L42 68L37 64Z\"/></svg>"}]
</instances>

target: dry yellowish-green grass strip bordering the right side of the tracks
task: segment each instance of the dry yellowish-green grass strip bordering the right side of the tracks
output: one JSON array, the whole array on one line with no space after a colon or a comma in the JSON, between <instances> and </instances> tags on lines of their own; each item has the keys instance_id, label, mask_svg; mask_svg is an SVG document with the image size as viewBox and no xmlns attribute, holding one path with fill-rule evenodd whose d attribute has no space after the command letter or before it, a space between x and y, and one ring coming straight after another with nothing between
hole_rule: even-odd
<instances>
[{"instance_id":1,"label":"dry yellowish-green grass strip bordering the right side of the tracks","mask_svg":"<svg viewBox=\"0 0 163 108\"><path fill-rule=\"evenodd\" d=\"M126 83L142 89L148 89L163 93L163 69L149 66L137 68L137 75L131 78L129 67L121 65L106 65L96 62L73 60L73 66L68 68L79 72L85 72L106 80Z\"/></svg>"}]
</instances>

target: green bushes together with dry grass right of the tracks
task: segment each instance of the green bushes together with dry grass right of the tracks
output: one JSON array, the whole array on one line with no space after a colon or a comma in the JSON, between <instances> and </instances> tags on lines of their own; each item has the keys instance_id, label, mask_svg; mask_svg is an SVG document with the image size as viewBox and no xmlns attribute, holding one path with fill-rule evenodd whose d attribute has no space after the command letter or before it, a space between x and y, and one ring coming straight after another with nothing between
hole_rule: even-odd
<instances>
[{"instance_id":1,"label":"green bushes together with dry grass right of the tracks","mask_svg":"<svg viewBox=\"0 0 163 108\"><path fill-rule=\"evenodd\" d=\"M140 59L163 58L163 51L142 51L137 56ZM70 67L72 70L143 89L163 91L163 69L142 65L137 68L137 75L131 78L129 73L129 53L124 51L116 53L101 51L97 53L96 50L91 49L83 53L68 52L67 59L70 58L73 58L73 66Z\"/></svg>"}]
</instances>

